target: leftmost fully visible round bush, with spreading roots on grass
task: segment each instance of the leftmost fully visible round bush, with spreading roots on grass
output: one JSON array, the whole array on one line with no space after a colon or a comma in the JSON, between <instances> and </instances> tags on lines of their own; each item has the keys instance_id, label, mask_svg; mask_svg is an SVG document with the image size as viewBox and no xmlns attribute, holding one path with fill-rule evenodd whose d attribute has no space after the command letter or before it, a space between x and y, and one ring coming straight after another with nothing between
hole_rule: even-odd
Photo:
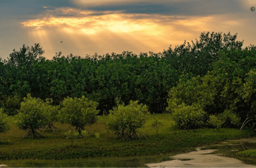
<instances>
[{"instance_id":1,"label":"leftmost fully visible round bush, with spreading roots on grass","mask_svg":"<svg viewBox=\"0 0 256 168\"><path fill-rule=\"evenodd\" d=\"M48 106L49 102L43 102L40 98L32 98L30 94L27 94L27 98L24 98L24 102L21 102L17 116L18 121L16 122L18 128L27 132L23 138L25 136L32 138L43 136L38 131L41 131L40 128L49 123Z\"/></svg>"}]
</instances>

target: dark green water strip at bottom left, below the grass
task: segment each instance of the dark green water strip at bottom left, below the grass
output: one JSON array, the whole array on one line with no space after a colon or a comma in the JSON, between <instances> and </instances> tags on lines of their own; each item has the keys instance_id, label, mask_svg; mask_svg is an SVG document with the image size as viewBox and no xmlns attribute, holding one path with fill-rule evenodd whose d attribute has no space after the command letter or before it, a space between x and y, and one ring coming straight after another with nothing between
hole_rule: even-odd
<instances>
[{"instance_id":1,"label":"dark green water strip at bottom left, below the grass","mask_svg":"<svg viewBox=\"0 0 256 168\"><path fill-rule=\"evenodd\" d=\"M8 168L148 168L146 163L173 160L169 156L86 158L75 160L13 160L3 161Z\"/></svg>"}]
</instances>

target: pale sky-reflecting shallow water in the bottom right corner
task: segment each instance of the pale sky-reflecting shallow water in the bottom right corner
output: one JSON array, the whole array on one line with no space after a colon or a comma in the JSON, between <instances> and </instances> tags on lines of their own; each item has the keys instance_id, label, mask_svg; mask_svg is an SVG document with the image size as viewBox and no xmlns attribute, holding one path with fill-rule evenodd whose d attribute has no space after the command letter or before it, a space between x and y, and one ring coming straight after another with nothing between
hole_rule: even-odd
<instances>
[{"instance_id":1,"label":"pale sky-reflecting shallow water in the bottom right corner","mask_svg":"<svg viewBox=\"0 0 256 168\"><path fill-rule=\"evenodd\" d=\"M150 168L256 168L255 161L238 160L232 154L245 149L255 149L255 142L228 140L220 145L196 148L196 151L172 156L174 160L146 164Z\"/></svg>"}]
</instances>

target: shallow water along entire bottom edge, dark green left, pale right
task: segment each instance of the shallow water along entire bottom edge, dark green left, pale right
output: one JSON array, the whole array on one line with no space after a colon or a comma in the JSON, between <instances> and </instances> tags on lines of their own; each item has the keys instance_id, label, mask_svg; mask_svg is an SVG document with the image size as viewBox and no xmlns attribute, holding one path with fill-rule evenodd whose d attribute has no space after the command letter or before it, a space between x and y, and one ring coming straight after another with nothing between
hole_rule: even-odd
<instances>
[{"instance_id":1,"label":"shallow water along entire bottom edge, dark green left, pale right","mask_svg":"<svg viewBox=\"0 0 256 168\"><path fill-rule=\"evenodd\" d=\"M226 142L222 142L220 145L197 148L196 152L178 154L171 157L162 155L125 158L84 158L72 160L13 160L0 161L0 165L8 165L6 168L172 168L177 164L176 166L180 166L182 168L191 166L200 168L201 166L221 167L222 164L224 166L230 162L230 164L234 163L235 166L240 165L238 167L241 168L256 168L256 161L240 161L231 158L233 152L255 148L256 142L252 140L251 143L227 140ZM197 162L199 162L199 164ZM201 164L201 162L205 163ZM216 166L211 166L210 164ZM246 166L246 164L250 165Z\"/></svg>"}]
</instances>

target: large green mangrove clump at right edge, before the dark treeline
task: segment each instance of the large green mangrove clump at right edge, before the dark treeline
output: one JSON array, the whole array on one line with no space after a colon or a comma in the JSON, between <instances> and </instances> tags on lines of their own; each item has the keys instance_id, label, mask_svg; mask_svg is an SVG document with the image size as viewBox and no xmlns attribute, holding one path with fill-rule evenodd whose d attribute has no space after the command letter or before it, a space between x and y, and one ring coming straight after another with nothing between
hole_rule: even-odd
<instances>
[{"instance_id":1,"label":"large green mangrove clump at right edge, before the dark treeline","mask_svg":"<svg viewBox=\"0 0 256 168\"><path fill-rule=\"evenodd\" d=\"M183 108L182 103L185 106L200 104L206 116L215 115L222 120L222 127L241 126L246 118L255 115L251 106L253 97L250 99L254 91L250 90L249 82L245 84L250 80L246 74L256 66L256 48L249 49L220 51L220 60L207 75L180 80L170 89L166 110L173 113Z\"/></svg>"}]
</instances>

